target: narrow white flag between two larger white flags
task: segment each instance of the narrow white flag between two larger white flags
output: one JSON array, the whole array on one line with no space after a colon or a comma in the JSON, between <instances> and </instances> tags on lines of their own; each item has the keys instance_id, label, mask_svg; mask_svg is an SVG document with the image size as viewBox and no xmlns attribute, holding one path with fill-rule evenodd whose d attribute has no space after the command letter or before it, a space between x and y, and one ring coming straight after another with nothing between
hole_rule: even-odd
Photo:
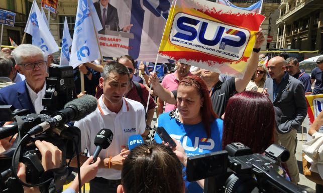
<instances>
[{"instance_id":1,"label":"narrow white flag between two larger white flags","mask_svg":"<svg viewBox=\"0 0 323 193\"><path fill-rule=\"evenodd\" d=\"M63 31L63 38L62 38L62 50L61 50L61 60L59 65L61 66L68 66L69 65L69 47L72 46L71 35L69 34L67 19L65 17L64 21L64 31Z\"/></svg>"}]
</instances>

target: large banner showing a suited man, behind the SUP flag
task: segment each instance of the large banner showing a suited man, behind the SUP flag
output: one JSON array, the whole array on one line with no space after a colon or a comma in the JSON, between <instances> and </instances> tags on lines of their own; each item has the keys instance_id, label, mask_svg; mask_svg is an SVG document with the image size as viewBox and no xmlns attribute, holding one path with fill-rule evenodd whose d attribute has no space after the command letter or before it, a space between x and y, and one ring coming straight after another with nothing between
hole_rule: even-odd
<instances>
[{"instance_id":1,"label":"large banner showing a suited man, behind the SUP flag","mask_svg":"<svg viewBox=\"0 0 323 193\"><path fill-rule=\"evenodd\" d=\"M155 62L171 2L93 0L103 28L98 34L102 55L120 57L126 54L135 60Z\"/></svg>"}]
</instances>

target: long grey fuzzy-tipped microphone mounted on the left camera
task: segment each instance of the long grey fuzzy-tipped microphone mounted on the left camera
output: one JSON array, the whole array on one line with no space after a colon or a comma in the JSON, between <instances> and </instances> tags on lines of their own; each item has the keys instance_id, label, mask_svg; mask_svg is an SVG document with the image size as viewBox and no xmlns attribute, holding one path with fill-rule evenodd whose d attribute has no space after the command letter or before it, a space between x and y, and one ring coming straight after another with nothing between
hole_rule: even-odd
<instances>
[{"instance_id":1,"label":"long grey fuzzy-tipped microphone mounted on the left camera","mask_svg":"<svg viewBox=\"0 0 323 193\"><path fill-rule=\"evenodd\" d=\"M97 107L97 100L92 95L84 95L78 99L74 99L64 106L64 109L53 114L48 121L44 121L34 126L27 133L36 135L46 131L57 125L65 124L69 121L78 121L93 112Z\"/></svg>"}]
</instances>

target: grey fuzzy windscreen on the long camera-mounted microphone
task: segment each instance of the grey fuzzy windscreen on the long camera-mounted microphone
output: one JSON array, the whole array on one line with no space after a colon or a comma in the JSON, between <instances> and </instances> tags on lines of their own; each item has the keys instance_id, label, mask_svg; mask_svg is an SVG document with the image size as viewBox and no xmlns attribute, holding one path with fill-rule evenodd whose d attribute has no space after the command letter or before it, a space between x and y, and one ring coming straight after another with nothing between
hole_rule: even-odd
<instances>
[{"instance_id":1,"label":"grey fuzzy windscreen on the long camera-mounted microphone","mask_svg":"<svg viewBox=\"0 0 323 193\"><path fill-rule=\"evenodd\" d=\"M64 108L68 106L74 106L77 109L77 115L71 121L79 121L91 112L95 111L97 107L97 99L92 95L86 94L78 99L74 99L66 103Z\"/></svg>"}]
</instances>

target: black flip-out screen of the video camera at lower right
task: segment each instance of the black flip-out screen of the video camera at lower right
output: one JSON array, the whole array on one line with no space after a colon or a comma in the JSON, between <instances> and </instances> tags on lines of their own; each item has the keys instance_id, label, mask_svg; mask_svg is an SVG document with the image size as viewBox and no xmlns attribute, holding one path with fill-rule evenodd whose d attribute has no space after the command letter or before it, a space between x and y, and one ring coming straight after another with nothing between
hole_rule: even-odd
<instances>
[{"instance_id":1,"label":"black flip-out screen of the video camera at lower right","mask_svg":"<svg viewBox=\"0 0 323 193\"><path fill-rule=\"evenodd\" d=\"M196 181L227 173L228 151L216 151L187 158L188 181Z\"/></svg>"}]
</instances>

